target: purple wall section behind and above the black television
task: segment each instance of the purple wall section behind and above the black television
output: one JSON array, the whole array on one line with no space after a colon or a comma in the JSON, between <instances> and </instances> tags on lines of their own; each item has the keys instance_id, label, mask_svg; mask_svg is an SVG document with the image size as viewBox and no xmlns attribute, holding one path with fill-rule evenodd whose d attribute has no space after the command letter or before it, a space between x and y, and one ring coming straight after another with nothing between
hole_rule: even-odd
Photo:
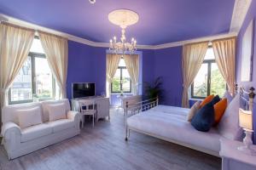
<instances>
[{"instance_id":1,"label":"purple wall section behind and above the black television","mask_svg":"<svg viewBox=\"0 0 256 170\"><path fill-rule=\"evenodd\" d=\"M106 48L68 41L67 98L72 99L73 82L96 82L96 95L105 92Z\"/></svg>"}]
</instances>

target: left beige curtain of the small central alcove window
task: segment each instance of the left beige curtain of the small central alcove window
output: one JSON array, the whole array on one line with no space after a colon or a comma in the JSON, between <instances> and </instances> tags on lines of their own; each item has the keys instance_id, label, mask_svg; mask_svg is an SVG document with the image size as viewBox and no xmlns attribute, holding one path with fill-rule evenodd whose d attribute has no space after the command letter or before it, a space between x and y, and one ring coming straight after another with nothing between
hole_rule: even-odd
<instances>
[{"instance_id":1,"label":"left beige curtain of the small central alcove window","mask_svg":"<svg viewBox=\"0 0 256 170\"><path fill-rule=\"evenodd\" d=\"M107 54L107 62L106 62L106 74L107 74L107 85L106 85L106 93L107 97L110 96L110 86L111 82L113 82L113 76L115 74L115 71L119 67L119 61L121 59L121 56L119 54ZM110 98L109 98L110 99Z\"/></svg>"}]
</instances>

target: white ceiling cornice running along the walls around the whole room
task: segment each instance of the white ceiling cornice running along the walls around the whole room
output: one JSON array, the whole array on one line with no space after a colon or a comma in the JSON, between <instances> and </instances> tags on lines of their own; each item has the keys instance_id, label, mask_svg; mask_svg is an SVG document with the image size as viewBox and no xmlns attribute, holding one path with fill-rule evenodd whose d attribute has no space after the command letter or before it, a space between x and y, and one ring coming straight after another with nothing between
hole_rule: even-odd
<instances>
[{"instance_id":1,"label":"white ceiling cornice running along the walls around the whole room","mask_svg":"<svg viewBox=\"0 0 256 170\"><path fill-rule=\"evenodd\" d=\"M183 46L183 44L186 43L192 43L192 42L203 42L203 41L212 41L215 39L221 39L226 37L235 37L237 36L238 32L241 29L242 23L245 20L248 8L250 7L252 0L236 0L236 3L234 5L231 25L230 25L230 32L226 34L219 34L215 36L209 36L209 37L200 37L200 38L194 38L190 40L180 41L180 42L170 42L170 43L164 43L159 45L137 45L138 49L162 49L162 48L172 48L172 47L178 47ZM26 22L24 20L15 19L11 16L0 14L0 21L7 21L9 23L18 25L18 26L25 26L28 28L32 28L36 31L45 31L49 32L61 37L66 37L68 40L83 43L85 45L89 45L96 48L108 48L109 44L107 42L93 42L90 40L87 40L85 38L76 37L71 34L68 34L66 32L61 31L55 31L53 29L49 29L44 26L38 26L36 24L32 24L29 22Z\"/></svg>"}]
</instances>

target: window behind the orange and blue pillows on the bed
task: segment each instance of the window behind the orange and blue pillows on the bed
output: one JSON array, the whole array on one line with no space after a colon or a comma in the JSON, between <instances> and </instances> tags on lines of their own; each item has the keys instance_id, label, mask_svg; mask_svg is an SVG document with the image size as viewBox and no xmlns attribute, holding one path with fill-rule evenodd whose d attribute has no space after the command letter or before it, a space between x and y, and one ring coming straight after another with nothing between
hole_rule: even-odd
<instances>
[{"instance_id":1,"label":"window behind the orange and blue pillows on the bed","mask_svg":"<svg viewBox=\"0 0 256 170\"><path fill-rule=\"evenodd\" d=\"M226 82L218 70L213 49L208 48L204 62L191 86L191 97L203 99L210 94L223 96L225 91Z\"/></svg>"}]
</instances>

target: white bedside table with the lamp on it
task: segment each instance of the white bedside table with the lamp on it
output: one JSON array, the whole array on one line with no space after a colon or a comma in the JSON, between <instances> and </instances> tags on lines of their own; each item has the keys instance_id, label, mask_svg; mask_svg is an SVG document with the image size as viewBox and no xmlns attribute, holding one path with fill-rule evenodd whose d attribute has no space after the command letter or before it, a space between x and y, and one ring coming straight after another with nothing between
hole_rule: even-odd
<instances>
[{"instance_id":1,"label":"white bedside table with the lamp on it","mask_svg":"<svg viewBox=\"0 0 256 170\"><path fill-rule=\"evenodd\" d=\"M242 142L220 139L219 156L222 157L222 170L255 170L256 156L250 156L237 150ZM256 150L256 145L252 146Z\"/></svg>"}]
</instances>

